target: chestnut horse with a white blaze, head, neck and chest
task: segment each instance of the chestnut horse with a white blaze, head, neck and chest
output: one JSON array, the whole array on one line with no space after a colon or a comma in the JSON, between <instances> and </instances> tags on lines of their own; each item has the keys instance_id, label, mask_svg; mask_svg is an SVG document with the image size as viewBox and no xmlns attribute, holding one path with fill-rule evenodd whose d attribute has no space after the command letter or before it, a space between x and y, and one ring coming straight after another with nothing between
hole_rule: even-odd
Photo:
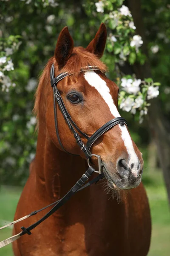
<instances>
[{"instance_id":1,"label":"chestnut horse with a white blaze, head, neck and chest","mask_svg":"<svg viewBox=\"0 0 170 256\"><path fill-rule=\"evenodd\" d=\"M50 84L52 64L55 76L63 72L72 74L59 81L57 89L71 118L83 133L91 136L109 120L120 116L119 89L105 76L105 64L99 60L106 36L102 23L95 38L84 49L74 47L67 27L59 34L54 57L48 61L37 88L34 107L39 122L37 151L15 219L62 198L87 169L85 156L58 106L60 140L71 154L65 153L57 140ZM88 65L97 66L101 71L80 72ZM86 144L87 140L81 134L80 137ZM31 236L14 241L15 256L147 255L151 224L147 195L141 183L143 159L126 125L118 124L105 132L95 141L91 152L102 156L107 186L118 191L120 201L104 191L103 182L76 193L36 227ZM93 163L97 168L96 159ZM125 192L125 189L131 190ZM28 227L43 215L44 212L40 212L26 219L24 226ZM20 226L14 225L14 234L20 232Z\"/></svg>"}]
</instances>

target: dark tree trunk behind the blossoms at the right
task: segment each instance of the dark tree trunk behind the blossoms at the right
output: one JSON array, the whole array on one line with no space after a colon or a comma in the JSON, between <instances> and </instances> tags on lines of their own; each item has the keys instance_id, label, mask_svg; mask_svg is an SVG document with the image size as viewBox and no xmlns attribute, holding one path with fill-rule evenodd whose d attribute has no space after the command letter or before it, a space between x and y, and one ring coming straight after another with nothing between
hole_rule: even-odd
<instances>
[{"instance_id":1,"label":"dark tree trunk behind the blossoms at the right","mask_svg":"<svg viewBox=\"0 0 170 256\"><path fill-rule=\"evenodd\" d=\"M147 40L144 34L145 29L142 20L141 0L127 0L126 3L133 16L136 26L136 34L142 36L142 40L144 41L142 48L147 55ZM134 72L136 73L136 76L141 79L151 77L149 61L143 66L135 64ZM165 118L164 113L161 110L159 98L151 101L148 115L148 126L157 146L170 204L170 122Z\"/></svg>"}]
</instances>

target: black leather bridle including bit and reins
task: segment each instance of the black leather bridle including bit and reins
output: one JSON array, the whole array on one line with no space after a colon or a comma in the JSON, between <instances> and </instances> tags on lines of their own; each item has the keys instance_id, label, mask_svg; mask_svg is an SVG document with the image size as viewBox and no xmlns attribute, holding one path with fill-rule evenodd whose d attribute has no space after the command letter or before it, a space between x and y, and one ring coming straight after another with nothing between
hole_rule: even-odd
<instances>
[{"instance_id":1,"label":"black leather bridle including bit and reins","mask_svg":"<svg viewBox=\"0 0 170 256\"><path fill-rule=\"evenodd\" d=\"M99 68L97 66L86 66L83 67L80 72L85 72L85 71L89 71L89 70L97 70L100 71ZM11 242L17 240L18 238L20 238L20 236L23 236L25 234L31 235L31 230L33 230L35 227L37 227L40 223L42 223L43 221L45 221L45 219L47 219L49 216L51 216L54 212L57 211L57 209L59 209L63 204L65 204L65 202L67 202L76 192L86 188L87 186L90 186L93 183L98 182L99 180L101 180L104 175L102 174L102 160L101 160L101 156L96 155L96 154L91 154L90 149L91 146L94 144L94 142L102 135L104 134L106 131L108 131L109 129L113 128L115 125L120 124L121 126L123 125L127 125L127 121L125 118L123 117L116 117L112 120L110 120L109 122L105 123L105 125L103 125L102 127L100 127L97 131L94 132L94 134L91 137L88 137L85 133L83 133L76 125L76 123L73 121L73 119L71 118L70 114L68 113L64 102L62 100L62 97L59 93L59 90L57 89L57 84L59 81L61 81L62 79L64 79L66 76L71 76L72 74L69 72L64 72L59 74L59 76L55 77L54 75L54 64L52 64L51 66L51 70L50 70L50 77L51 77L51 86L53 88L53 95L54 95L54 119L55 119L55 129L56 129L56 134L57 134L57 139L58 142L62 148L63 151L65 151L66 153L69 153L68 151L65 150L65 148L62 145L62 142L60 140L59 137L59 131L58 131L58 122L57 122L57 108L56 108L56 103L59 106L59 110L62 113L62 116L65 119L65 122L67 123L68 127L70 128L71 132L74 134L74 138L77 142L77 145L79 145L80 149L84 152L85 157L88 160L88 170L82 175L82 177L79 178L79 180L76 182L76 184L68 191L68 193L66 195L63 196L63 198L59 199L58 201L49 204L48 206L36 210L34 212L31 212L30 214L16 220L16 221L12 221L10 224L7 224L3 227L0 227L0 230L2 230L5 227L9 227L12 224L15 224L19 221L23 221L26 218L29 218L33 215L36 215L38 212L53 206L54 207L49 210L42 218L40 218L40 220L38 220L37 222L35 222L34 224L32 224L31 226L25 228L25 227L21 227L21 229L23 231L21 231L20 233L18 233L17 235L11 236L8 239L5 239L3 241L0 242L0 248L3 246L6 246L7 244L10 244ZM127 126L128 128L128 126ZM84 145L84 143L82 142L79 134L81 134L83 137L85 137L85 139L87 140L86 145ZM69 153L71 154L71 153ZM91 166L91 157L97 157L98 159L98 168L99 170L96 171L92 166ZM91 175L97 172L99 173L99 175L97 177L95 177L93 180L90 180L88 183L86 183L88 181L88 179L91 177ZM86 184L85 184L86 183Z\"/></svg>"}]
</instances>

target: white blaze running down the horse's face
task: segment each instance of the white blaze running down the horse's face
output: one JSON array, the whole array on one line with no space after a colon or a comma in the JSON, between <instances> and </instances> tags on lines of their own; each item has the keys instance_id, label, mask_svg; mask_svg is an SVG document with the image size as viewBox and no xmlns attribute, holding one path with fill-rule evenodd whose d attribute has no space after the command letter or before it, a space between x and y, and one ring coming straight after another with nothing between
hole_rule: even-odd
<instances>
[{"instance_id":1,"label":"white blaze running down the horse's face","mask_svg":"<svg viewBox=\"0 0 170 256\"><path fill-rule=\"evenodd\" d=\"M93 86L102 96L102 98L105 100L112 115L114 117L120 117L120 114L116 108L116 105L114 105L112 96L110 94L110 89L107 86L106 82L92 70L86 71L84 74L84 77L85 77L85 80L88 82L88 84ZM129 154L129 165L134 163L132 172L134 175L137 175L137 166L139 164L139 158L137 157L135 150L133 148L131 137L125 125L124 126L119 125L119 128L122 131L121 137L122 137L122 140L124 141L125 147L127 149L127 153Z\"/></svg>"}]
</instances>

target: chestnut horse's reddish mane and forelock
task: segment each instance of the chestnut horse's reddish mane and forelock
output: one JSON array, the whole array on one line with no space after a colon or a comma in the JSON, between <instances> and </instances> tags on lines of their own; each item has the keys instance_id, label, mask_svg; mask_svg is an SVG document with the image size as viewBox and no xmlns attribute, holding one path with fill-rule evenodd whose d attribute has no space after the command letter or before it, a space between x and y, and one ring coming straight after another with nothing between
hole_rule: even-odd
<instances>
[{"instance_id":1,"label":"chestnut horse's reddish mane and forelock","mask_svg":"<svg viewBox=\"0 0 170 256\"><path fill-rule=\"evenodd\" d=\"M39 85L35 93L34 113L36 114L37 119L39 118L42 87L49 85L50 68L53 63L54 65L57 65L54 57L50 58L48 63L46 64L42 72L42 75L40 76ZM59 75L59 73L68 71L71 74L73 73L73 76L77 76L81 68L88 65L97 66L102 72L105 72L107 70L107 67L105 66L105 64L102 61L100 61L96 55L86 51L82 47L74 47L73 52L70 58L68 59L67 63L61 70L57 72L56 75Z\"/></svg>"}]
</instances>

